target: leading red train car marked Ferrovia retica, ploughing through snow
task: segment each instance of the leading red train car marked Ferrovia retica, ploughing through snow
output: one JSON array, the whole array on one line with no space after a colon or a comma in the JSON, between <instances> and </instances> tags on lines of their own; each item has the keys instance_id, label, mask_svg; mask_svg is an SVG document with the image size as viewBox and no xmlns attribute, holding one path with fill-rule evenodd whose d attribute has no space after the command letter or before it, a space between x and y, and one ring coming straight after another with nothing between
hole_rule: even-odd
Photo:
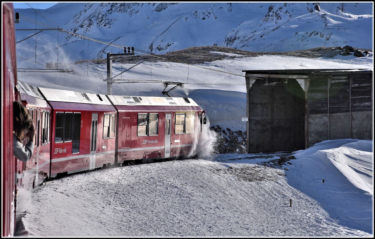
<instances>
[{"instance_id":1,"label":"leading red train car marked Ferrovia retica, ploughing through snow","mask_svg":"<svg viewBox=\"0 0 375 239\"><path fill-rule=\"evenodd\" d=\"M190 98L107 97L118 113L118 164L186 156L202 130L202 108Z\"/></svg>"}]
</instances>

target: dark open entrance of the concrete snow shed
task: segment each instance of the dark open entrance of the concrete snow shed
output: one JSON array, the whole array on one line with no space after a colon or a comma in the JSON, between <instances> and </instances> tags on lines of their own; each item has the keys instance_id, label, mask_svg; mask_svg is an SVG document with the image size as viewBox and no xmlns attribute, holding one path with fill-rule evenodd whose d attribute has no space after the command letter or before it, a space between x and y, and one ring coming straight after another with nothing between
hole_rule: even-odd
<instances>
[{"instance_id":1,"label":"dark open entrance of the concrete snow shed","mask_svg":"<svg viewBox=\"0 0 375 239\"><path fill-rule=\"evenodd\" d=\"M254 79L248 91L248 153L305 148L305 91L296 79Z\"/></svg>"}]
</instances>

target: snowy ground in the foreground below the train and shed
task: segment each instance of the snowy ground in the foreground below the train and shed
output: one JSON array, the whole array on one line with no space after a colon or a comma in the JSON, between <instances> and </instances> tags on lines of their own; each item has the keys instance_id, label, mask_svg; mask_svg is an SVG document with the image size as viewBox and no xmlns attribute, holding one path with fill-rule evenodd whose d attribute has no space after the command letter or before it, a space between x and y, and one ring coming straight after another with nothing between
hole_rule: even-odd
<instances>
[{"instance_id":1,"label":"snowy ground in the foreground below the train and shed","mask_svg":"<svg viewBox=\"0 0 375 239\"><path fill-rule=\"evenodd\" d=\"M372 152L328 140L281 165L226 154L74 174L25 192L17 234L371 237Z\"/></svg>"}]
</instances>

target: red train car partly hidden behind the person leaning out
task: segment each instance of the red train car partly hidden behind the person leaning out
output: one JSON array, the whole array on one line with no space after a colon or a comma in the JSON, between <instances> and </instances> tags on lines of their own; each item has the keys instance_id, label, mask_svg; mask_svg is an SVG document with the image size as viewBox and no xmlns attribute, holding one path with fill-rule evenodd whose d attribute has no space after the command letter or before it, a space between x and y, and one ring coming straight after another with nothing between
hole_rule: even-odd
<instances>
[{"instance_id":1,"label":"red train car partly hidden behind the person leaning out","mask_svg":"<svg viewBox=\"0 0 375 239\"><path fill-rule=\"evenodd\" d=\"M34 188L49 177L51 107L34 86L18 81L22 103L35 128L34 152L27 162L18 161L18 182L22 188ZM25 140L25 144L28 138Z\"/></svg>"}]
</instances>

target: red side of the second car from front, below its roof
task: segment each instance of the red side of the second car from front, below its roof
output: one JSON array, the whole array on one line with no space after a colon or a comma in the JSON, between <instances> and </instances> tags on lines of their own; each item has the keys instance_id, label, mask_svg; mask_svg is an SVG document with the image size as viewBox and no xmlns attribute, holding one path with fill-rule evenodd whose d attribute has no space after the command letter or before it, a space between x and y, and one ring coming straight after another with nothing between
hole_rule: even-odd
<instances>
[{"instance_id":1,"label":"red side of the second car from front, below its roof","mask_svg":"<svg viewBox=\"0 0 375 239\"><path fill-rule=\"evenodd\" d=\"M105 115L116 119L112 105L49 103L53 108L51 177L114 164L115 137L103 138Z\"/></svg>"}]
</instances>

